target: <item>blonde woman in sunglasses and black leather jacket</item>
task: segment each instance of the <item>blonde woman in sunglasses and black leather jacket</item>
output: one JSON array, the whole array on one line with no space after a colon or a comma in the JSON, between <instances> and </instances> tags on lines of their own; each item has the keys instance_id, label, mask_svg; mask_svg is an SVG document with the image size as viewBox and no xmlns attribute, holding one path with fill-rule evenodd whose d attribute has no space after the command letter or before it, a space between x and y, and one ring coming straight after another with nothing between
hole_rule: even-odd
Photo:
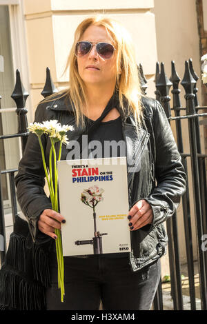
<instances>
[{"instance_id":1,"label":"blonde woman in sunglasses and black leather jacket","mask_svg":"<svg viewBox=\"0 0 207 324\"><path fill-rule=\"evenodd\" d=\"M21 309L98 310L102 301L103 310L150 310L161 275L160 257L166 254L164 221L175 212L185 190L181 157L163 108L155 99L141 96L132 41L116 21L99 16L82 21L75 32L68 66L69 89L43 100L35 121L58 119L61 124L74 125L70 140L88 134L89 142L96 139L103 145L115 140L126 144L110 156L127 156L132 252L64 257L66 295L61 303L55 228L61 229L66 219L52 210L43 190L39 143L37 136L30 134L15 181L17 199L30 229L29 234L25 230L22 244L29 259L24 273L28 272L33 282L30 285L25 275L23 283L27 294L33 290L36 298L26 305L21 290L21 305L17 298L15 302L12 298L2 302L1 294L0 303ZM50 141L46 135L43 147L48 165ZM61 159L68 159L68 152L63 148ZM104 150L102 156L106 156ZM21 230L27 228L26 222L18 222ZM32 256L28 253L31 249ZM7 263L12 263L10 250ZM15 266L21 268L17 262ZM2 271L9 270L5 266ZM38 301L45 289L46 296Z\"/></svg>"}]
</instances>

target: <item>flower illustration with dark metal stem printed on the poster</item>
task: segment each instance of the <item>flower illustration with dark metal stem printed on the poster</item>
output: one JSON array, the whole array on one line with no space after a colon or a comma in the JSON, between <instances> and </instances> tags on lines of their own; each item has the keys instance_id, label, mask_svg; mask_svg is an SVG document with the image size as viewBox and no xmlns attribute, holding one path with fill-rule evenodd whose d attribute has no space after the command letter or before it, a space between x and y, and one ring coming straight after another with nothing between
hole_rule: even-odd
<instances>
[{"instance_id":1,"label":"flower illustration with dark metal stem printed on the poster","mask_svg":"<svg viewBox=\"0 0 207 324\"><path fill-rule=\"evenodd\" d=\"M97 185L93 185L88 189L84 189L81 192L81 201L88 207L92 208L93 220L94 220L94 237L92 240L83 240L83 241L75 241L76 245L83 245L83 244L91 244L93 245L93 253L94 254L101 254L103 253L102 249L102 236L108 235L108 233L100 233L97 232L97 223L96 223L96 212L95 207L100 201L103 201L103 194L104 190L99 188Z\"/></svg>"}]
</instances>

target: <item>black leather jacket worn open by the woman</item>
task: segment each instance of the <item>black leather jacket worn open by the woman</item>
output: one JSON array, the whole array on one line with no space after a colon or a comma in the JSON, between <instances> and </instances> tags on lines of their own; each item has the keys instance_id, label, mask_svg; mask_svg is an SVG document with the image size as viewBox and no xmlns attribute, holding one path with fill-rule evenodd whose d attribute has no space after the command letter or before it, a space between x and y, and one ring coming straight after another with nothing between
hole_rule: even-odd
<instances>
[{"instance_id":1,"label":"black leather jacket worn open by the woman","mask_svg":"<svg viewBox=\"0 0 207 324\"><path fill-rule=\"evenodd\" d=\"M161 104L148 97L142 97L142 102L145 107L144 123L138 134L132 115L126 118L117 105L126 141L129 206L131 208L139 199L146 199L152 206L154 215L152 224L130 232L130 265L133 271L166 254L168 236L164 221L174 214L186 188L186 174L181 164L181 156ZM62 125L75 126L75 131L68 134L69 140L78 139L83 131L76 127L72 106L65 98L57 96L55 101L39 103L34 121L50 119L57 119ZM50 139L44 134L41 139L46 164L49 165ZM63 145L61 159L66 159L67 153L66 145ZM52 209L50 199L43 189L44 176L39 141L35 134L30 133L15 184L17 200L28 220L30 234L35 242L43 236L46 240L52 240L37 229L41 212L47 208Z\"/></svg>"}]
</instances>

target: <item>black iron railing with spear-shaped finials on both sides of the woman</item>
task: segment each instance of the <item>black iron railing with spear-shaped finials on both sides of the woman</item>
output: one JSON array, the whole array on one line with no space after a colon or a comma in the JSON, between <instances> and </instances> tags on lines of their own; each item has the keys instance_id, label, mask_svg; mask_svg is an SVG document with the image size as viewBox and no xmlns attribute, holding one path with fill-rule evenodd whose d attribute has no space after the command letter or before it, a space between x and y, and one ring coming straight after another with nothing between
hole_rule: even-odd
<instances>
[{"instance_id":1,"label":"black iron railing with spear-shaped finials on both sides of the woman","mask_svg":"<svg viewBox=\"0 0 207 324\"><path fill-rule=\"evenodd\" d=\"M159 70L159 63L156 65L155 73L155 85L156 85L156 99L163 105L168 117L169 123L175 121L176 132L177 132L177 147L181 154L182 162L186 174L193 179L193 205L195 207L195 224L196 224L196 236L197 236L197 258L199 265L199 289L201 297L201 310L207 310L207 252L202 250L202 236L207 234L207 188L206 188L206 154L201 153L201 136L199 133L199 118L207 116L207 113L200 113L199 110L206 110L207 107L201 107L197 100L197 74L193 70L193 63L190 59L185 63L185 73L184 78L181 81L176 70L175 63L172 61L172 74L170 79L166 77L164 72L164 63L161 63ZM146 94L147 81L144 77L142 66L139 65L139 78L141 82L141 89L143 94ZM180 102L180 90L179 82L185 90L186 108L181 107ZM170 108L170 96L169 91L172 87L172 109ZM48 97L50 94L57 92L55 85L52 83L50 77L50 70L47 68L46 71L46 83L41 94L43 97ZM20 74L17 70L17 81L12 93L12 99L14 99L17 105L17 116L18 116L18 133L0 136L0 140L8 139L12 137L21 137L21 148L22 152L26 146L26 141L28 138L27 132L27 110L26 110L26 99L28 98L28 93L24 90L21 84ZM1 97L0 97L1 99ZM1 107L0 107L1 108ZM181 115L181 111L186 112L185 115ZM171 116L171 112L175 113L175 117ZM183 134L182 134L182 121L188 120L188 134L189 134L189 144L190 152L184 153L183 144ZM187 159L190 159L191 170L188 172ZM13 220L15 215L17 215L17 199L14 186L14 170L0 170L1 174L8 173L10 176L10 192L12 197L12 216ZM0 176L0 235L4 239L4 247L6 247L6 230L5 230L5 220L3 211L3 195L1 192L1 176ZM184 231L185 231L185 244L186 244L186 256L188 263L188 278L189 278L189 294L190 294L190 307L191 310L196 309L195 302L195 273L194 273L194 263L193 263L193 236L192 236L192 215L190 214L190 193L187 188L186 193L182 197L182 208L184 217ZM177 229L177 214L175 213L166 222L167 232L168 232L168 253L169 253L169 266L170 266L170 286L171 286L171 296L173 301L174 310L183 310L183 294L181 289L181 270L180 270L180 258L179 258L179 235ZM6 248L0 251L1 254L1 264L4 260L6 254ZM154 310L163 310L163 292L161 289L161 279L155 300L153 303Z\"/></svg>"}]
</instances>

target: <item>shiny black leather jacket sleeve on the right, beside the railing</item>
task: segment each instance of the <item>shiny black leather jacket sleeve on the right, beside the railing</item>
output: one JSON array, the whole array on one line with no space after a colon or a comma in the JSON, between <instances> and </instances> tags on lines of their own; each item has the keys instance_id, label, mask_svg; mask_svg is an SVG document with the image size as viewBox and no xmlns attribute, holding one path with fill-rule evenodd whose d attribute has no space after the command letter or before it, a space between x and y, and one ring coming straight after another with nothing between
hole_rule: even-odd
<instances>
[{"instance_id":1,"label":"shiny black leather jacket sleeve on the right, beside the railing","mask_svg":"<svg viewBox=\"0 0 207 324\"><path fill-rule=\"evenodd\" d=\"M155 179L157 186L144 199L152 207L153 227L166 221L175 213L181 195L186 190L186 173L166 113L159 101L155 101L152 125L155 136Z\"/></svg>"}]
</instances>

